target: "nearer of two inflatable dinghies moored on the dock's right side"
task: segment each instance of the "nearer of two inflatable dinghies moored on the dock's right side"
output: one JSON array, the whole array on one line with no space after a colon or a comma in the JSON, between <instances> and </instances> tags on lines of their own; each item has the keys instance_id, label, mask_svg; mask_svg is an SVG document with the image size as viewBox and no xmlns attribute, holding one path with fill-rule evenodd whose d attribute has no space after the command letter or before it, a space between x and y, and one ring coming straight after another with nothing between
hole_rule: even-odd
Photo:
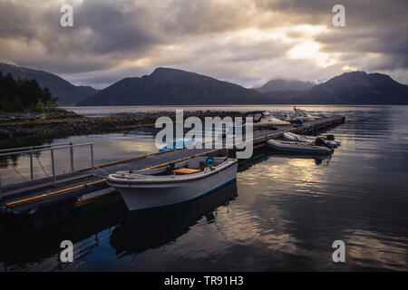
<instances>
[{"instance_id":1,"label":"nearer of two inflatable dinghies moored on the dock's right side","mask_svg":"<svg viewBox=\"0 0 408 290\"><path fill-rule=\"evenodd\" d=\"M333 151L330 148L310 143L283 140L267 140L267 146L273 150L307 154L330 154Z\"/></svg>"}]
</instances>

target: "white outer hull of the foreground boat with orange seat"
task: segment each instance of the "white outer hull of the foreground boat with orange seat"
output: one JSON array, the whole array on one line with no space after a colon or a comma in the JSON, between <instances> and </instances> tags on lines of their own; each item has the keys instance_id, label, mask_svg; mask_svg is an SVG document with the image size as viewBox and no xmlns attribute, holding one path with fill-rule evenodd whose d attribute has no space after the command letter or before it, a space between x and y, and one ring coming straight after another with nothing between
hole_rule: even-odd
<instances>
[{"instance_id":1,"label":"white outer hull of the foreground boat with orange seat","mask_svg":"<svg viewBox=\"0 0 408 290\"><path fill-rule=\"evenodd\" d=\"M119 191L130 211L161 208L204 197L237 178L238 163L202 179L182 182L108 184Z\"/></svg>"}]
</instances>

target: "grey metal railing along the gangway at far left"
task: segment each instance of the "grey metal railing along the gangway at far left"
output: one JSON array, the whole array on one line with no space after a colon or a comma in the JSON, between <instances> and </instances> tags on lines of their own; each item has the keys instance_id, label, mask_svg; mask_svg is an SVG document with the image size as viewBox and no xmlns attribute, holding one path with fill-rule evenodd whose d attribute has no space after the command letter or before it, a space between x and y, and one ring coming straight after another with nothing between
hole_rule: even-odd
<instances>
[{"instance_id":1,"label":"grey metal railing along the gangway at far left","mask_svg":"<svg viewBox=\"0 0 408 290\"><path fill-rule=\"evenodd\" d=\"M20 147L20 148L12 148L12 149L5 149L0 150L0 157L7 157L11 155L20 155L20 154L28 154L30 156L30 180L34 180L34 163L33 163L33 154L35 152L41 151L50 151L51 152L51 165L53 171L53 186L56 185L56 170L55 170L55 160L54 160L54 151L55 150L62 150L69 148L70 150L70 163L71 163L71 172L75 169L73 167L73 148L74 147L83 147L83 146L90 146L91 149L91 163L92 163L92 175L94 174L94 164L93 164L93 142L92 143L82 143L82 144L73 144L70 143L60 143L60 144L53 144L53 145L41 145L41 146L31 146L31 147ZM2 182L0 176L0 199L2 198Z\"/></svg>"}]
</instances>

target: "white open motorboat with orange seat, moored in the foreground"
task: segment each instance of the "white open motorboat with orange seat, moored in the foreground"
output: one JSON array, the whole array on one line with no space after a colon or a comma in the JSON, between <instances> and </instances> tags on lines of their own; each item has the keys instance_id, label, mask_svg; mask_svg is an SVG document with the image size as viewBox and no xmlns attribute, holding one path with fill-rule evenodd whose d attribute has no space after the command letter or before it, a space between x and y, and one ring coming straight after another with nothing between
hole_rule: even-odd
<instances>
[{"instance_id":1,"label":"white open motorboat with orange seat, moored in the foreground","mask_svg":"<svg viewBox=\"0 0 408 290\"><path fill-rule=\"evenodd\" d=\"M121 193L129 210L167 207L197 199L237 178L238 160L196 157L157 169L118 171L108 185Z\"/></svg>"}]
</instances>

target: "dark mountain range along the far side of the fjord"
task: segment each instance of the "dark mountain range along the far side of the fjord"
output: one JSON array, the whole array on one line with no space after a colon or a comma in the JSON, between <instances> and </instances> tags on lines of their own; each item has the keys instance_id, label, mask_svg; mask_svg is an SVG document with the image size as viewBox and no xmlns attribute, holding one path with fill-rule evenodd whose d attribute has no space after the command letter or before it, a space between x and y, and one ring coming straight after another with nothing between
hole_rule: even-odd
<instances>
[{"instance_id":1,"label":"dark mountain range along the far side of the fjord","mask_svg":"<svg viewBox=\"0 0 408 290\"><path fill-rule=\"evenodd\" d=\"M408 85L382 73L343 73L316 85L276 79L247 89L199 73L159 67L149 75L124 78L98 91L75 86L53 73L15 65L0 63L0 71L37 80L59 98L60 105L408 104Z\"/></svg>"}]
</instances>

